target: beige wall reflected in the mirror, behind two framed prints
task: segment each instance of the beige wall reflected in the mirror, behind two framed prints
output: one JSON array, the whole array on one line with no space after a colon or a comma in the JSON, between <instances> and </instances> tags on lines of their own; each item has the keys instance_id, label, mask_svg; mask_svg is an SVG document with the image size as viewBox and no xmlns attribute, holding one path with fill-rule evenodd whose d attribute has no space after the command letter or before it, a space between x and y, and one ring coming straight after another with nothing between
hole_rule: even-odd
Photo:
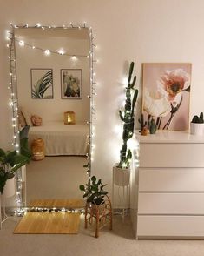
<instances>
[{"instance_id":1,"label":"beige wall reflected in the mirror, behind two framed prints","mask_svg":"<svg viewBox=\"0 0 204 256\"><path fill-rule=\"evenodd\" d=\"M78 35L82 30L78 31ZM41 33L44 35L41 35ZM62 121L65 111L75 111L76 122L89 120L89 37L87 39L74 38L69 30L18 30L15 34L18 40L25 42L20 46L16 42L16 67L17 67L17 96L18 104L31 114L37 114L47 121ZM61 32L60 35L59 32ZM89 30L87 31L89 35ZM31 35L30 35L31 33ZM51 35L50 35L51 34ZM80 54L85 57L77 57L73 60L66 55L50 54L46 56L43 51L33 50L26 44L35 45L38 48L58 51L63 49L69 54ZM53 98L31 98L30 69L52 69L53 71ZM82 70L82 99L61 98L61 69ZM39 77L38 77L39 78ZM49 88L49 93L52 93Z\"/></svg>"}]
</instances>

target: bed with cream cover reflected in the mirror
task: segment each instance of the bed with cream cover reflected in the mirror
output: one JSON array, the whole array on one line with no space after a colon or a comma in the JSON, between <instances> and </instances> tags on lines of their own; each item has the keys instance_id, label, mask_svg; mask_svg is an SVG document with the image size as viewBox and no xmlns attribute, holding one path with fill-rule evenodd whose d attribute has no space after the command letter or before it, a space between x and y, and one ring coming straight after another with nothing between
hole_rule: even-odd
<instances>
[{"instance_id":1,"label":"bed with cream cover reflected in the mirror","mask_svg":"<svg viewBox=\"0 0 204 256\"><path fill-rule=\"evenodd\" d=\"M64 125L63 122L54 121L41 126L31 126L29 144L35 138L43 138L46 156L84 156L88 152L89 125Z\"/></svg>"}]
</instances>

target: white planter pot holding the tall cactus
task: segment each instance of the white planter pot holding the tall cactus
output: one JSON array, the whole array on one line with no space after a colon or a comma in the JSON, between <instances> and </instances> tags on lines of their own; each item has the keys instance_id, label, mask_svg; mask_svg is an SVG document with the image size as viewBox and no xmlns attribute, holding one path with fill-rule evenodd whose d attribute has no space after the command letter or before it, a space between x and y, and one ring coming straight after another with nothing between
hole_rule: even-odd
<instances>
[{"instance_id":1,"label":"white planter pot holding the tall cactus","mask_svg":"<svg viewBox=\"0 0 204 256\"><path fill-rule=\"evenodd\" d=\"M129 185L130 168L122 169L122 168L116 167L116 165L114 165L113 167L114 184L119 186Z\"/></svg>"}]
</instances>

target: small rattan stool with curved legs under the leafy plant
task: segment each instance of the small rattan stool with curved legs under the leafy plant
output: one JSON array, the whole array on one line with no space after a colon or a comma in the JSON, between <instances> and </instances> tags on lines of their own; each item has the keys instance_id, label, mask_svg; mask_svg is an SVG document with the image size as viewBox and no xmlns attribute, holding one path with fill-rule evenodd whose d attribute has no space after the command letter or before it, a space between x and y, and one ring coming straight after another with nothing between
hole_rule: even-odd
<instances>
[{"instance_id":1,"label":"small rattan stool with curved legs under the leafy plant","mask_svg":"<svg viewBox=\"0 0 204 256\"><path fill-rule=\"evenodd\" d=\"M99 237L99 229L109 225L112 230L112 206L108 196L104 197L104 202L101 205L87 203L85 206L85 228L93 225L95 219L95 238Z\"/></svg>"}]
</instances>

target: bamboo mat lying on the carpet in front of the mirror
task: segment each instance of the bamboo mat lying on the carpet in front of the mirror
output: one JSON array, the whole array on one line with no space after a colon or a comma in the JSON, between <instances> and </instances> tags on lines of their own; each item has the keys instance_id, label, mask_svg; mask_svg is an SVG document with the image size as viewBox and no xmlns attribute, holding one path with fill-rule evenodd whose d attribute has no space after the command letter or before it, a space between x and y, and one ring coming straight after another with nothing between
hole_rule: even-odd
<instances>
[{"instance_id":1,"label":"bamboo mat lying on the carpet in front of the mirror","mask_svg":"<svg viewBox=\"0 0 204 256\"><path fill-rule=\"evenodd\" d=\"M25 212L17 224L15 234L76 234L80 213Z\"/></svg>"}]
</instances>

